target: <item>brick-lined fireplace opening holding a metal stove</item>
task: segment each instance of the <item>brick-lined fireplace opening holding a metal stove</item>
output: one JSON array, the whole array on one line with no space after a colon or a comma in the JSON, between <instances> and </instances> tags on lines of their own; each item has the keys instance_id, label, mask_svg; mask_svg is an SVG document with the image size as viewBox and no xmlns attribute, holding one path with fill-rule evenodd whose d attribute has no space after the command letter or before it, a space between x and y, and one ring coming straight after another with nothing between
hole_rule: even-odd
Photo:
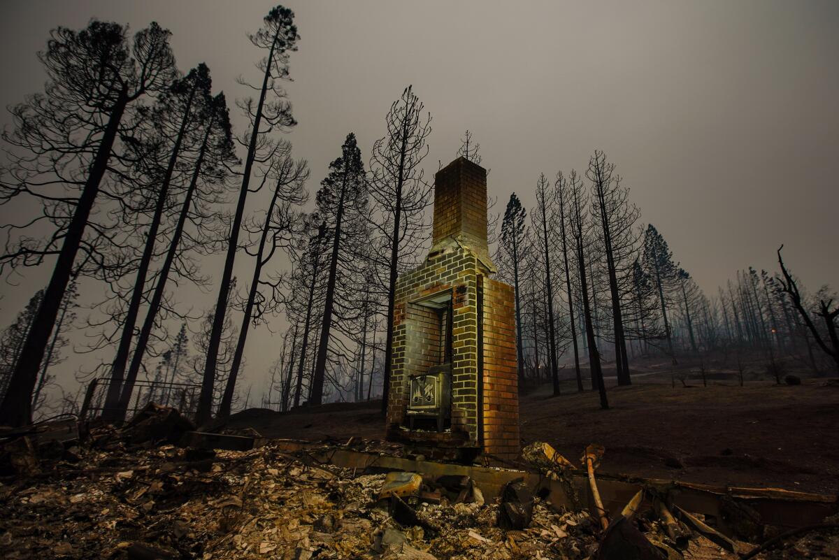
<instances>
[{"instance_id":1,"label":"brick-lined fireplace opening holding a metal stove","mask_svg":"<svg viewBox=\"0 0 839 560\"><path fill-rule=\"evenodd\" d=\"M451 290L409 303L408 314L415 367L405 419L411 430L443 432L451 429Z\"/></svg>"}]
</instances>

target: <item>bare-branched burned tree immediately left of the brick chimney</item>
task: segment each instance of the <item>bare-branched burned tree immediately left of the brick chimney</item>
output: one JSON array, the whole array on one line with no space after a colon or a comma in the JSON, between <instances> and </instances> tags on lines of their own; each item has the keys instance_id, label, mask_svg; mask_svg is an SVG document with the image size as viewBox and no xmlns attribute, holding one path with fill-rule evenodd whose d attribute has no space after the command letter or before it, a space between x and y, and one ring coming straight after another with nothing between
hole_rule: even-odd
<instances>
[{"instance_id":1,"label":"bare-branched burned tree immediately left of the brick chimney","mask_svg":"<svg viewBox=\"0 0 839 560\"><path fill-rule=\"evenodd\" d=\"M393 101L385 117L387 135L373 144L370 158L370 195L376 203L378 220L373 227L388 242L382 245L383 261L388 269L388 326L384 355L384 394L388 394L390 366L393 359L393 302L400 264L414 264L422 247L427 228L425 208L430 202L431 188L423 179L420 163L428 155L425 139L431 133L431 115L423 115L423 104L411 86ZM400 262L401 261L401 262ZM382 410L387 399L382 399Z\"/></svg>"}]
</instances>

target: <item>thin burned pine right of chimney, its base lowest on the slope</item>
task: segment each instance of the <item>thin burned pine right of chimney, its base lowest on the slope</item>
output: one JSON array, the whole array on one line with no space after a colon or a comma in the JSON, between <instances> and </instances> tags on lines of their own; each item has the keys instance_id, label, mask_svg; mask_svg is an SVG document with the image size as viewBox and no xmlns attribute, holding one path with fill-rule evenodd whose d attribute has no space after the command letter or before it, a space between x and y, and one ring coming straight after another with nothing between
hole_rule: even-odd
<instances>
[{"instance_id":1,"label":"thin burned pine right of chimney, its base lowest on the slope","mask_svg":"<svg viewBox=\"0 0 839 560\"><path fill-rule=\"evenodd\" d=\"M591 384L600 393L600 407L609 407L606 396L606 382L603 380L603 370L600 363L600 353L597 351L594 321L589 303L588 280L586 278L586 247L591 246L591 223L586 220L586 198L582 181L576 171L571 170L568 175L569 194L569 225L571 237L576 245L576 264L580 281L583 318L586 322L586 341L588 346L588 366L591 371Z\"/></svg>"}]
</instances>

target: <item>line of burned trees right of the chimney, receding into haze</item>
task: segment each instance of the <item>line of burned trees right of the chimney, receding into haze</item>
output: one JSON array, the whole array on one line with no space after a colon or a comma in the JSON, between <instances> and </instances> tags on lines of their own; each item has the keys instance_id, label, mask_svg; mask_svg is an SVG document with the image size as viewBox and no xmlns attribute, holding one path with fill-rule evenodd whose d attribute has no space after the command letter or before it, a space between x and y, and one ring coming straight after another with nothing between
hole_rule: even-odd
<instances>
[{"instance_id":1,"label":"line of burned trees right of the chimney, receding into haze","mask_svg":"<svg viewBox=\"0 0 839 560\"><path fill-rule=\"evenodd\" d=\"M587 378L608 408L603 366L629 385L632 360L650 357L670 362L674 386L680 364L696 366L707 383L709 360L729 355L742 384L747 353L765 360L777 382L784 361L839 371L836 295L827 287L801 293L780 250L780 272L749 267L706 296L663 234L641 223L630 189L599 150L582 175L539 174L534 200L527 210L510 195L494 252L515 288L520 385L550 382L558 396L560 371L573 368L576 391Z\"/></svg>"}]
</instances>

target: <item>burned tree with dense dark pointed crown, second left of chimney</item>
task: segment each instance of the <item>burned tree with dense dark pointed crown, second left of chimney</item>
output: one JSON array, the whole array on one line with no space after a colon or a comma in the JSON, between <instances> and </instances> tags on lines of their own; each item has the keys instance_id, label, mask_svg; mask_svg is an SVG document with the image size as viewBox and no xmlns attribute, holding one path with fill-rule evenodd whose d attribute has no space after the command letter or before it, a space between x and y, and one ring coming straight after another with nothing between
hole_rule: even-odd
<instances>
[{"instance_id":1,"label":"burned tree with dense dark pointed crown, second left of chimney","mask_svg":"<svg viewBox=\"0 0 839 560\"><path fill-rule=\"evenodd\" d=\"M327 228L331 229L331 256L329 261L329 277L326 282L326 297L324 303L323 320L320 325L320 342L315 360L315 373L310 390L310 404L323 402L324 379L326 377L326 361L329 352L330 334L333 314L336 311L336 281L339 275L341 247L347 252L347 243L352 242L352 233L357 233L352 226L365 220L367 215L366 178L362 153L356 143L356 135L350 132L341 146L341 157L329 165L330 173L320 183L317 193L317 206L320 214L329 217ZM365 220L366 222L366 220Z\"/></svg>"}]
</instances>

